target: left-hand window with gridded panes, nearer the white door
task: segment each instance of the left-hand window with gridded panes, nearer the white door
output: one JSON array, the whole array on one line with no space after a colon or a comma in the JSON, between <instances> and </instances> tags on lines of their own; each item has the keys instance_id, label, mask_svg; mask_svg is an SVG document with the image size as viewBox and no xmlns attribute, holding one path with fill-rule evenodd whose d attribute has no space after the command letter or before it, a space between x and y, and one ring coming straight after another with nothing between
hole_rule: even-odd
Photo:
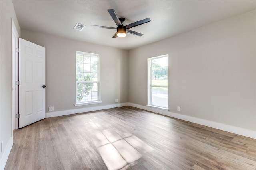
<instances>
[{"instance_id":1,"label":"left-hand window with gridded panes, nearer the white door","mask_svg":"<svg viewBox=\"0 0 256 170\"><path fill-rule=\"evenodd\" d=\"M76 51L76 104L101 103L100 55Z\"/></svg>"}]
</instances>

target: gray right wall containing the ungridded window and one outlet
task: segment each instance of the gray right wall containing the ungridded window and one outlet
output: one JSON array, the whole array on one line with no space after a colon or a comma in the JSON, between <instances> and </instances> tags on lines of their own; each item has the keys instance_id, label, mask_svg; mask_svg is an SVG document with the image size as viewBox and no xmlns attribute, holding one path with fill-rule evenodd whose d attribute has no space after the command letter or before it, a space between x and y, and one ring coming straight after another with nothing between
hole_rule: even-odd
<instances>
[{"instance_id":1,"label":"gray right wall containing the ungridded window and one outlet","mask_svg":"<svg viewBox=\"0 0 256 170\"><path fill-rule=\"evenodd\" d=\"M146 106L147 58L164 54L170 112L256 132L256 10L130 50L130 103Z\"/></svg>"}]
</instances>

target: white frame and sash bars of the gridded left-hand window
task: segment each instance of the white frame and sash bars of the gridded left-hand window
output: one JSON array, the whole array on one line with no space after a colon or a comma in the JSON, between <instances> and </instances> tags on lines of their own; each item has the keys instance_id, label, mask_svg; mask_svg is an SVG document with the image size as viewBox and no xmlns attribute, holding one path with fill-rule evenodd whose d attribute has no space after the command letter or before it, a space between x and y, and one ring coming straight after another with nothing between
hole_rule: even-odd
<instances>
[{"instance_id":1,"label":"white frame and sash bars of the gridded left-hand window","mask_svg":"<svg viewBox=\"0 0 256 170\"><path fill-rule=\"evenodd\" d=\"M90 55L90 57L97 57L98 58L98 62L97 62L97 81L77 81L77 55ZM90 65L92 65L92 63L90 63ZM90 70L91 71L91 70ZM87 53L87 52L82 52L82 51L76 51L76 71L75 71L75 79L76 79L76 103L74 104L74 106L83 106L83 105L89 105L89 104L98 104L98 103L102 103L102 101L100 100L100 55L99 54L95 54L95 53ZM91 73L92 74L92 73ZM90 100L90 101L82 101L82 102L78 102L77 100L77 84L78 83L97 83L97 100Z\"/></svg>"}]
</instances>

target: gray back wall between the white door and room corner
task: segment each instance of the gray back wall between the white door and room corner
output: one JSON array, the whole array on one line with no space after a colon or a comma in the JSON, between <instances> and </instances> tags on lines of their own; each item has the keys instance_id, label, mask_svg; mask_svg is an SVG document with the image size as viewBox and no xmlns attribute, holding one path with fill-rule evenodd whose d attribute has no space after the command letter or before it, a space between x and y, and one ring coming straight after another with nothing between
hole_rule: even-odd
<instances>
[{"instance_id":1,"label":"gray back wall between the white door and room corner","mask_svg":"<svg viewBox=\"0 0 256 170\"><path fill-rule=\"evenodd\" d=\"M128 102L128 51L25 30L21 37L46 48L46 112ZM100 54L101 104L74 106L76 51Z\"/></svg>"}]
</instances>

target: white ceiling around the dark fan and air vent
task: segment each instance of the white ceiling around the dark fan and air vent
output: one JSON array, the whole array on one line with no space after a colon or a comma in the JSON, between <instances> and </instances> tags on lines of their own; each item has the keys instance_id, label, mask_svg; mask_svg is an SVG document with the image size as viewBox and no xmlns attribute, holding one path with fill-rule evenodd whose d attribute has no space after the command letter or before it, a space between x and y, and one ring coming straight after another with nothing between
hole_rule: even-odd
<instances>
[{"instance_id":1,"label":"white ceiling around the dark fan and air vent","mask_svg":"<svg viewBox=\"0 0 256 170\"><path fill-rule=\"evenodd\" d=\"M12 2L22 30L127 50L256 9L256 0L12 0ZM126 18L124 25L148 17L151 22L130 29L144 34L142 37L127 34L125 38L113 39L116 30L90 26L116 27L108 9L114 9L118 17ZM82 31L77 31L73 29L76 23L86 27Z\"/></svg>"}]
</instances>

